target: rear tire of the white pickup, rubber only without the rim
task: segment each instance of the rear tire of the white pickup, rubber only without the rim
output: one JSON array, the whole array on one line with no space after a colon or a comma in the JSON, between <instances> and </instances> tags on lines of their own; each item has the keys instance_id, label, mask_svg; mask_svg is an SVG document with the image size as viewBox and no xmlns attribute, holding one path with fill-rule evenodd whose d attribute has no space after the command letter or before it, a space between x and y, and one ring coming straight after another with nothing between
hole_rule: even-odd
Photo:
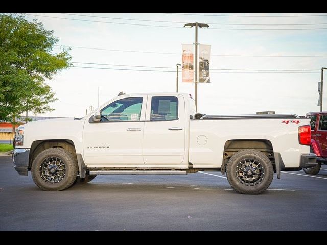
<instances>
[{"instance_id":1,"label":"rear tire of the white pickup, rubber only without the rim","mask_svg":"<svg viewBox=\"0 0 327 245\"><path fill-rule=\"evenodd\" d=\"M243 185L236 177L235 171L238 163L247 158L255 159L256 161L260 162L264 170L263 180L259 184L256 184L254 186ZM241 150L237 152L235 155L233 155L227 163L226 175L227 175L228 182L233 187L233 189L235 189L237 192L242 194L262 193L271 184L271 181L273 179L273 174L274 174L273 166L269 158L258 150L253 150L253 149Z\"/></svg>"}]
</instances>

